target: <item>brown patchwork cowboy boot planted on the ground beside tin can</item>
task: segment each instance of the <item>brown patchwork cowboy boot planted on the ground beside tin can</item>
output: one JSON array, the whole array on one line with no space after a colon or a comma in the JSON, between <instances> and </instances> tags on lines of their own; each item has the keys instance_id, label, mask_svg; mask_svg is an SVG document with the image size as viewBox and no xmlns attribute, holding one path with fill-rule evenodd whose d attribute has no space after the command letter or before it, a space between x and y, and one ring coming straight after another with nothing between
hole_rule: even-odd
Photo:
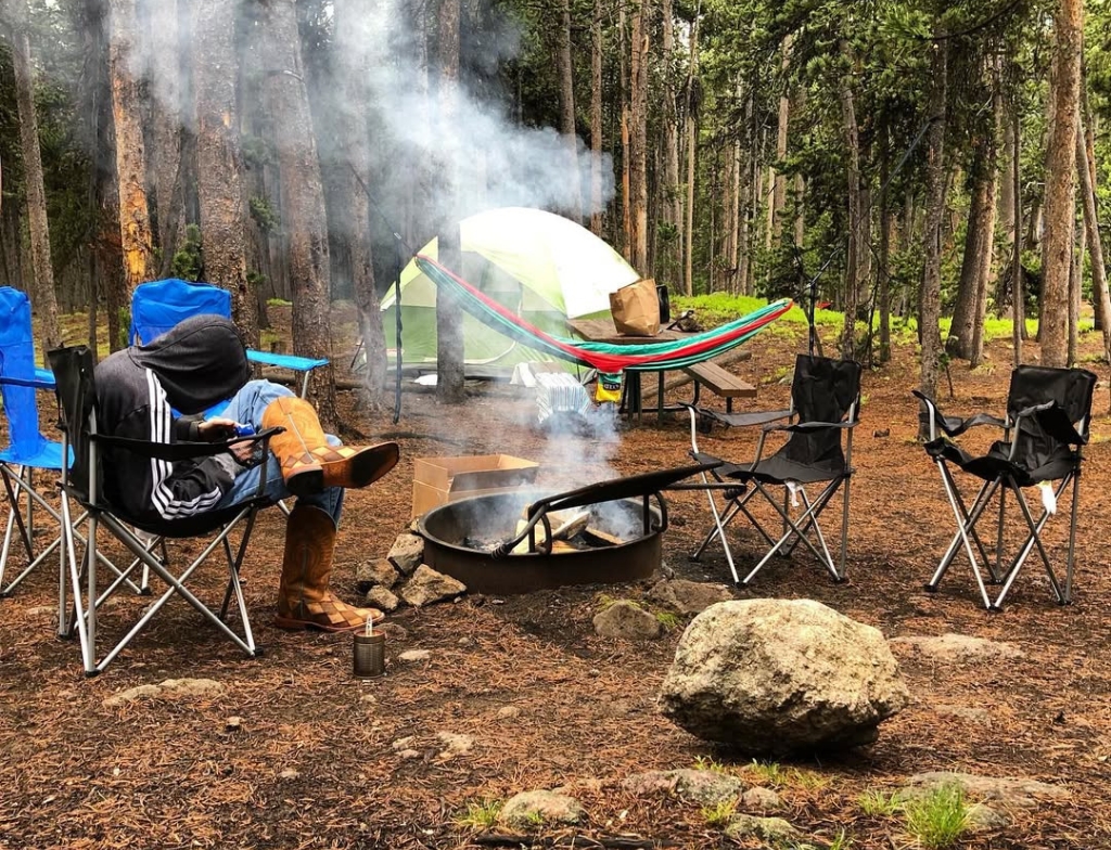
<instances>
[{"instance_id":1,"label":"brown patchwork cowboy boot planted on the ground beside tin can","mask_svg":"<svg viewBox=\"0 0 1111 850\"><path fill-rule=\"evenodd\" d=\"M332 552L336 523L327 510L298 505L286 526L286 557L278 587L278 616L282 629L356 631L367 620L381 621L377 608L356 608L332 596Z\"/></svg>"}]
</instances>

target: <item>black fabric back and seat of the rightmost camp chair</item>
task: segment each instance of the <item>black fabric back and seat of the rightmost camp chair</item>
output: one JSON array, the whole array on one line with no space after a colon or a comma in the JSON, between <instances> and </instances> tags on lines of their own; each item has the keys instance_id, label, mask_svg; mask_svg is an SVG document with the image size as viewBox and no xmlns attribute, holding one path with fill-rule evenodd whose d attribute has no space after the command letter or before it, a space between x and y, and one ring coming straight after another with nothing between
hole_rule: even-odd
<instances>
[{"instance_id":1,"label":"black fabric back and seat of the rightmost camp chair","mask_svg":"<svg viewBox=\"0 0 1111 850\"><path fill-rule=\"evenodd\" d=\"M1092 372L1082 368L1018 366L1011 372L1011 387L1007 394L1007 414L1011 422L1019 412L1047 402L1055 403L1068 419L1065 423L1052 416L1023 417L1019 422L1022 438L1015 464L1028 470L1044 470L1055 461L1070 458L1078 437L1088 442L1095 381ZM1075 433L1069 426L1074 426ZM1010 448L1010 444L1002 445Z\"/></svg>"}]
</instances>

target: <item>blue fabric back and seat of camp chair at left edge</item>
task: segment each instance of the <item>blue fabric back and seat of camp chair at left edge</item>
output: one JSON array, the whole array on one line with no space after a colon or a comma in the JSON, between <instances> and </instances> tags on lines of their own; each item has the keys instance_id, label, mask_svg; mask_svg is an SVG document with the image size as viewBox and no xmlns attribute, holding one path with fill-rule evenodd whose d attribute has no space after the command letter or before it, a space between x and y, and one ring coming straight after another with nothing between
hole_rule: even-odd
<instances>
[{"instance_id":1,"label":"blue fabric back and seat of camp chair at left edge","mask_svg":"<svg viewBox=\"0 0 1111 850\"><path fill-rule=\"evenodd\" d=\"M34 337L31 302L10 286L0 286L0 375L30 381L34 377ZM11 463L39 455L47 438L39 432L39 407L32 386L0 384L8 417Z\"/></svg>"}]
</instances>

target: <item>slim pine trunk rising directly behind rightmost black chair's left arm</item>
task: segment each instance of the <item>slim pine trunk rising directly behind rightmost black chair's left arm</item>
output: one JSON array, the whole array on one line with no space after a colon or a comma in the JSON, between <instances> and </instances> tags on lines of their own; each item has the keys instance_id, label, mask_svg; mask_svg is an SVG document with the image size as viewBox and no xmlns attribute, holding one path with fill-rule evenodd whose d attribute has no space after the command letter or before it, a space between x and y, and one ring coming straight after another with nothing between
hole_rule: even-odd
<instances>
[{"instance_id":1,"label":"slim pine trunk rising directly behind rightmost black chair's left arm","mask_svg":"<svg viewBox=\"0 0 1111 850\"><path fill-rule=\"evenodd\" d=\"M944 33L939 33L944 36ZM927 192L925 257L922 272L922 293L919 301L919 333L921 334L921 391L934 397L941 366L941 229L945 213L945 125L949 105L949 42L935 41L931 48L930 64L930 119L927 131ZM930 423L924 411L919 412L919 437L925 439Z\"/></svg>"}]
</instances>

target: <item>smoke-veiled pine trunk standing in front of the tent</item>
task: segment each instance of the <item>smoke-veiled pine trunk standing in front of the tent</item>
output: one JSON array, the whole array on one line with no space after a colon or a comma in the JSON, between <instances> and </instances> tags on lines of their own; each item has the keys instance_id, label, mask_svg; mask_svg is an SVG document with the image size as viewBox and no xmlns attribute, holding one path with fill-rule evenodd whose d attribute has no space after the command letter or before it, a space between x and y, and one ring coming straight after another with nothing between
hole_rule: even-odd
<instances>
[{"instance_id":1,"label":"smoke-veiled pine trunk standing in front of the tent","mask_svg":"<svg viewBox=\"0 0 1111 850\"><path fill-rule=\"evenodd\" d=\"M454 114L456 98L459 88L459 0L440 1L440 134L456 132ZM449 156L448 162L454 162ZM459 185L456 175L450 173L448 165L446 180L448 196L457 198ZM459 236L459 223L441 222L439 227L440 257L451 271L462 272L462 255ZM443 291L437 292L436 327L437 327L437 384L436 395L441 403L461 404L466 401L463 393L463 313L454 297L444 296Z\"/></svg>"}]
</instances>

